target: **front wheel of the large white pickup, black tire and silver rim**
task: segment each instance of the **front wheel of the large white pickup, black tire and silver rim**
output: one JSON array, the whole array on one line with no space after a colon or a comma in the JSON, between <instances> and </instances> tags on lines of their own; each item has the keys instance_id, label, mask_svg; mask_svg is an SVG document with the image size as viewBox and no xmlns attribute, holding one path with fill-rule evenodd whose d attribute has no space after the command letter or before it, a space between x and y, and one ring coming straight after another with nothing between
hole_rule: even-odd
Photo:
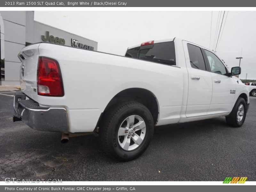
<instances>
[{"instance_id":1,"label":"front wheel of the large white pickup, black tire and silver rim","mask_svg":"<svg viewBox=\"0 0 256 192\"><path fill-rule=\"evenodd\" d=\"M240 116L242 113L238 112L238 108L239 108L239 111L241 111L241 112L244 111L242 117ZM238 97L231 113L228 116L226 116L227 124L232 127L241 127L244 124L246 112L247 112L247 104L246 104L244 98ZM239 116L238 116L238 114L239 114Z\"/></svg>"}]
</instances>

